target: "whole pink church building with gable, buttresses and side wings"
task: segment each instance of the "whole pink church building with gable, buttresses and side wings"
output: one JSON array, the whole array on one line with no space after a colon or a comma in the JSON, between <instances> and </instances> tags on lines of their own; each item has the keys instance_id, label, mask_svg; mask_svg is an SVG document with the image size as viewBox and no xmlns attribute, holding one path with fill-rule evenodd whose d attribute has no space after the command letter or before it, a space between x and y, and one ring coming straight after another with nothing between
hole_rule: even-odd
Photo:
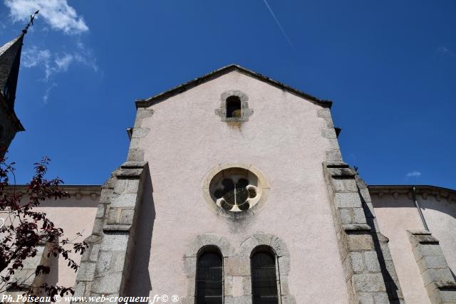
<instances>
[{"instance_id":1,"label":"whole pink church building with gable, buttresses and side wings","mask_svg":"<svg viewBox=\"0 0 456 304\"><path fill-rule=\"evenodd\" d=\"M46 280L177 303L456 303L456 192L368 186L331 104L239 65L137 100L108 181L40 206L91 230L76 278Z\"/></svg>"}]
</instances>

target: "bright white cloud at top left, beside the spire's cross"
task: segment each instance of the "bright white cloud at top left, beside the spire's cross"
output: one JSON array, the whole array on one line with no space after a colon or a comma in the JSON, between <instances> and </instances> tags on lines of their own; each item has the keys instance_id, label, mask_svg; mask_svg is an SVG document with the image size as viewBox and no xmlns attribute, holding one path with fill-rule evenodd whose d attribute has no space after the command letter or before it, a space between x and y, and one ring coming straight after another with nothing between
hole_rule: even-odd
<instances>
[{"instance_id":1,"label":"bright white cloud at top left, beside the spire's cross","mask_svg":"<svg viewBox=\"0 0 456 304\"><path fill-rule=\"evenodd\" d=\"M83 17L66 0L4 0L4 4L10 9L13 21L28 21L30 14L39 10L36 18L42 17L55 30L68 34L88 31Z\"/></svg>"}]
</instances>

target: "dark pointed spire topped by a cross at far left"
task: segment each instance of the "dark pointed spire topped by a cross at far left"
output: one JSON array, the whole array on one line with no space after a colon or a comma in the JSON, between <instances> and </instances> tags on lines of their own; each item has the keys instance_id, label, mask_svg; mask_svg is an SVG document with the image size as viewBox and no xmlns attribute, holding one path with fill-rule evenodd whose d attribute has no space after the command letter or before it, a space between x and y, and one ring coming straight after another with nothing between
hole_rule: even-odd
<instances>
[{"instance_id":1,"label":"dark pointed spire topped by a cross at far left","mask_svg":"<svg viewBox=\"0 0 456 304\"><path fill-rule=\"evenodd\" d=\"M19 77L19 65L21 63L22 42L28 28L33 25L33 19L38 14L30 15L30 21L22 30L21 35L0 47L0 95L6 100L9 108L14 108L16 99L17 79Z\"/></svg>"}]
</instances>

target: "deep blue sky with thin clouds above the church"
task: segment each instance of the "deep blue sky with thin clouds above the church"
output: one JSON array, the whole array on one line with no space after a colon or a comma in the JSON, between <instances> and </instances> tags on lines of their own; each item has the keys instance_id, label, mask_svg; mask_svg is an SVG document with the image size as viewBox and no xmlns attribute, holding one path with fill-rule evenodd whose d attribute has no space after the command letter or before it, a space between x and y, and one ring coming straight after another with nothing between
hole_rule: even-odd
<instances>
[{"instance_id":1,"label":"deep blue sky with thin clouds above the church","mask_svg":"<svg viewBox=\"0 0 456 304\"><path fill-rule=\"evenodd\" d=\"M269 8L268 8L269 6ZM133 100L237 63L333 100L343 158L368 184L456 189L455 1L1 0L23 48L16 182L101 184L126 157Z\"/></svg>"}]
</instances>

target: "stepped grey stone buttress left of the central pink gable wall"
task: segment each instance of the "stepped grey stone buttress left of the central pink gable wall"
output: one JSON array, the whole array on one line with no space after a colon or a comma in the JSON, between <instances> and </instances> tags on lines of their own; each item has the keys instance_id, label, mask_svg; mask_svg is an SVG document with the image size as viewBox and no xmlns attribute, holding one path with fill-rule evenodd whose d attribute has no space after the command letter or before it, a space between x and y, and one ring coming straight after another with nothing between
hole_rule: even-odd
<instances>
[{"instance_id":1,"label":"stepped grey stone buttress left of the central pink gable wall","mask_svg":"<svg viewBox=\"0 0 456 304\"><path fill-rule=\"evenodd\" d=\"M125 296L147 162L125 162L103 186L75 296Z\"/></svg>"}]
</instances>

